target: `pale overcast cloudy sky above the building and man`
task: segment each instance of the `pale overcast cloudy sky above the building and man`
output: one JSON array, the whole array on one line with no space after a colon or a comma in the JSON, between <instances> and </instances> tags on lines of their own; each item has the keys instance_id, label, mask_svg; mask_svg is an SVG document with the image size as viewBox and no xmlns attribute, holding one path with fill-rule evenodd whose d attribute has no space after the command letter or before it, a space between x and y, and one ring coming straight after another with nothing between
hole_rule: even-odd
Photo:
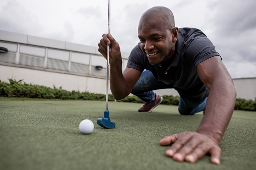
<instances>
[{"instance_id":1,"label":"pale overcast cloudy sky above the building and man","mask_svg":"<svg viewBox=\"0 0 256 170\"><path fill-rule=\"evenodd\" d=\"M256 77L255 0L111 0L111 35L122 52L138 44L142 14L172 10L175 26L202 30L232 78ZM108 0L1 0L0 30L97 47L107 33ZM1 39L1 37L0 37Z\"/></svg>"}]
</instances>

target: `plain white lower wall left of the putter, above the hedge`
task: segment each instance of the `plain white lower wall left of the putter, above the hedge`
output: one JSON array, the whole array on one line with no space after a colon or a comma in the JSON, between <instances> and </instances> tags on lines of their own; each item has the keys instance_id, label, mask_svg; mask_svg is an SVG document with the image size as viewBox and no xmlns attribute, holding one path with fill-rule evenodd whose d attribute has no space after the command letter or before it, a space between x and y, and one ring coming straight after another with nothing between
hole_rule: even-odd
<instances>
[{"instance_id":1,"label":"plain white lower wall left of the putter, above the hedge","mask_svg":"<svg viewBox=\"0 0 256 170\"><path fill-rule=\"evenodd\" d=\"M54 73L48 71L32 70L19 67L10 67L0 65L1 81L9 82L8 79L24 80L26 83L34 85L43 85L53 88L60 86L62 89L72 91L88 91L90 93L106 93L106 80L77 76L71 74ZM110 90L109 90L110 91Z\"/></svg>"}]
</instances>

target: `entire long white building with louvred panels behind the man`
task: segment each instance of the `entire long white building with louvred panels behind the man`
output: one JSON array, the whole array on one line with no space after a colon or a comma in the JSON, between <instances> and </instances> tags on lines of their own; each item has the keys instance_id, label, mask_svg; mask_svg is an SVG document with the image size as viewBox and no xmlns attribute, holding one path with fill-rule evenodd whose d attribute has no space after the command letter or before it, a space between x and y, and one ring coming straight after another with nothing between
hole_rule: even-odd
<instances>
[{"instance_id":1,"label":"entire long white building with louvred panels behind the man","mask_svg":"<svg viewBox=\"0 0 256 170\"><path fill-rule=\"evenodd\" d=\"M0 80L9 78L65 90L106 93L106 60L97 47L45 39L0 30ZM4 52L4 51L3 51ZM128 53L122 53L122 70ZM237 98L256 98L256 78L233 79ZM177 96L174 89L156 90ZM109 90L110 93L110 90Z\"/></svg>"}]
</instances>

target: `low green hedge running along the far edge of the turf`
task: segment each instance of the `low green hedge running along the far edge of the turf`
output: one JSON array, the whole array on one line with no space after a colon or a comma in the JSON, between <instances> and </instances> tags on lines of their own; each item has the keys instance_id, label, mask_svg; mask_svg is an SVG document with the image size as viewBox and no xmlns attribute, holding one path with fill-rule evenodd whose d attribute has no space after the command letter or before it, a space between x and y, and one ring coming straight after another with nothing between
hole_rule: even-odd
<instances>
[{"instance_id":1,"label":"low green hedge running along the far edge of the turf","mask_svg":"<svg viewBox=\"0 0 256 170\"><path fill-rule=\"evenodd\" d=\"M106 100L105 94L95 94L89 92L79 92L79 91L67 91L63 90L62 87L53 88L27 84L23 80L13 80L9 79L9 83L5 83L0 80L0 96L4 97L28 97L28 98L43 98L43 99L72 99L72 100ZM114 101L113 95L108 96L109 101ZM133 102L133 103L144 103L137 96L127 96L122 100L122 102ZM164 95L161 104L172 104L178 105L179 97L172 95ZM249 110L256 111L256 101L245 100L237 98L235 101L236 110Z\"/></svg>"}]
</instances>

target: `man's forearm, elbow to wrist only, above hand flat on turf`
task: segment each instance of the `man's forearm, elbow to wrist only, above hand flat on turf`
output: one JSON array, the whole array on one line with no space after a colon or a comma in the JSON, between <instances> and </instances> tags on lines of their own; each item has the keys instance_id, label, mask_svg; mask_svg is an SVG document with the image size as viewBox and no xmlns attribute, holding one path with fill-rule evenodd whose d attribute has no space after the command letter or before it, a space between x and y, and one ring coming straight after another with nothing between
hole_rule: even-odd
<instances>
[{"instance_id":1,"label":"man's forearm, elbow to wrist only, above hand flat on turf","mask_svg":"<svg viewBox=\"0 0 256 170\"><path fill-rule=\"evenodd\" d=\"M213 84L197 132L207 134L219 144L234 111L235 98L236 90L232 82Z\"/></svg>"}]
</instances>

